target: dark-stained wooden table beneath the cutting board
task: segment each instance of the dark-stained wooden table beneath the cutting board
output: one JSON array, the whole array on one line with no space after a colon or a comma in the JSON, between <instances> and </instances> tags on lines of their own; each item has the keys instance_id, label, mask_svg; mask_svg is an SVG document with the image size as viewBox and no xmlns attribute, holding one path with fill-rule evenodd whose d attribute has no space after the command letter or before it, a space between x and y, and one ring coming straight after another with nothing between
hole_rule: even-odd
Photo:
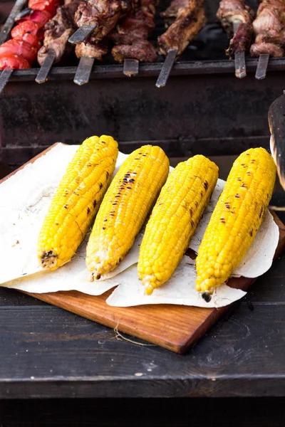
<instances>
[{"instance_id":1,"label":"dark-stained wooden table beneath the cutting board","mask_svg":"<svg viewBox=\"0 0 285 427\"><path fill-rule=\"evenodd\" d=\"M180 356L0 288L0 426L284 427L284 307L285 256Z\"/></svg>"}]
</instances>

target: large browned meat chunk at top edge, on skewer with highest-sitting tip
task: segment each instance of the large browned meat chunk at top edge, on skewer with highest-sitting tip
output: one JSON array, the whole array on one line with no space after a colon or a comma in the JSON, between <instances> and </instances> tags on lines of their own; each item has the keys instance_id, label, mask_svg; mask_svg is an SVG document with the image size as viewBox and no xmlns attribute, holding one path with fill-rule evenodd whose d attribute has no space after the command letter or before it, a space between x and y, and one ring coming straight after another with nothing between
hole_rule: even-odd
<instances>
[{"instance_id":1,"label":"large browned meat chunk at top edge, on skewer with highest-sitting tip","mask_svg":"<svg viewBox=\"0 0 285 427\"><path fill-rule=\"evenodd\" d=\"M130 0L89 0L78 6L76 25L95 25L93 37L102 40L116 26L119 19L131 10Z\"/></svg>"}]
</instances>

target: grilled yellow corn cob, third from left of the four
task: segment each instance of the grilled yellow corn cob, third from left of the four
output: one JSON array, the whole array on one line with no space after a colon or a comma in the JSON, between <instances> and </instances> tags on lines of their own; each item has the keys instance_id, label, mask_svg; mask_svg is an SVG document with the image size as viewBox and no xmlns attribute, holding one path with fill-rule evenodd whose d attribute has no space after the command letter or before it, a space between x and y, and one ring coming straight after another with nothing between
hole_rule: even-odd
<instances>
[{"instance_id":1,"label":"grilled yellow corn cob, third from left of the four","mask_svg":"<svg viewBox=\"0 0 285 427\"><path fill-rule=\"evenodd\" d=\"M162 187L140 246L138 277L147 295L165 283L189 247L217 184L219 168L204 156L175 167Z\"/></svg>"}]
</instances>

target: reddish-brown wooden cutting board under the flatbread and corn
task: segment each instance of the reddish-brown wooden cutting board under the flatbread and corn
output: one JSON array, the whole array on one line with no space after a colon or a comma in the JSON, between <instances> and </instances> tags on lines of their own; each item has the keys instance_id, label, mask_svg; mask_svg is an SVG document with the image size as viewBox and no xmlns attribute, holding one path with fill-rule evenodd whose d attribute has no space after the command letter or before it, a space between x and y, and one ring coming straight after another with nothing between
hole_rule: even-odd
<instances>
[{"instance_id":1,"label":"reddish-brown wooden cutting board under the flatbread and corn","mask_svg":"<svg viewBox=\"0 0 285 427\"><path fill-rule=\"evenodd\" d=\"M33 163L49 149L38 154L28 163ZM23 167L24 165L20 169ZM9 176L6 176L0 183L16 172L14 171ZM285 246L285 226L274 212L272 214L280 230L279 245L275 254L275 257L278 257ZM256 279L232 278L229 280L228 285L232 288L248 290L254 280ZM187 349L195 344L230 307L229 305L219 309L185 307L182 305L110 307L105 303L105 299L111 292L112 290L97 297L77 291L51 292L47 294L30 293L28 295L180 354L185 353Z\"/></svg>"}]
</instances>

